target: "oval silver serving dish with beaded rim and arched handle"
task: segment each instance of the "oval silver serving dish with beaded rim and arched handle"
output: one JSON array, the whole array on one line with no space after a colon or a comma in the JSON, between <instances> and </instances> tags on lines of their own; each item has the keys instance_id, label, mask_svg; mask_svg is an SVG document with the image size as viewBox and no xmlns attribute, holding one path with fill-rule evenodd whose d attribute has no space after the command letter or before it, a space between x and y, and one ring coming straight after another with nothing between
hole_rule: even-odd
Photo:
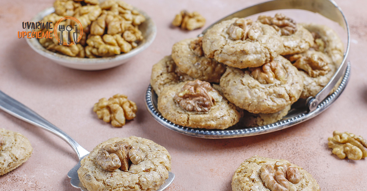
<instances>
[{"instance_id":1,"label":"oval silver serving dish with beaded rim and arched handle","mask_svg":"<svg viewBox=\"0 0 367 191\"><path fill-rule=\"evenodd\" d=\"M324 17L337 22L345 29L346 33L348 34L348 43L346 51L344 53L342 64L339 66L337 72L335 72L333 78L330 79L329 83L315 97L309 97L307 100L298 100L292 105L292 108L288 112L287 116L285 116L282 120L272 123L270 125L251 128L234 125L225 130L206 130L183 127L180 125L176 125L164 118L157 110L157 95L154 93L154 90L149 85L145 96L146 107L153 118L168 129L189 136L201 138L233 138L254 136L257 134L270 133L273 131L285 129L287 127L291 127L298 123L309 120L319 115L321 112L325 111L325 109L333 104L335 100L337 100L342 91L345 89L350 72L350 62L346 61L350 47L349 25L342 10L333 0L273 0L244 8L243 10L237 11L217 21L216 23L233 17L247 17L260 12L279 9L301 9L317 12ZM211 26L209 26L208 28L210 28ZM207 31L207 29L204 30L203 33L199 36L202 36ZM339 84L338 89L334 93L328 95L333 87L338 83L338 80L340 78L342 78L342 81Z\"/></svg>"}]
</instances>

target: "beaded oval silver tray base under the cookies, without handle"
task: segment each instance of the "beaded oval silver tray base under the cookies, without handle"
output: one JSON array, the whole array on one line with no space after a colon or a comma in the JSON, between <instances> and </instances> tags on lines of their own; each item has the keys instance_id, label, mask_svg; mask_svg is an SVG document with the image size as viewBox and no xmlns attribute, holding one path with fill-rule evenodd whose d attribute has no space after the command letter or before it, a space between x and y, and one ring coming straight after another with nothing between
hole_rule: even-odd
<instances>
[{"instance_id":1,"label":"beaded oval silver tray base under the cookies, without handle","mask_svg":"<svg viewBox=\"0 0 367 191\"><path fill-rule=\"evenodd\" d=\"M270 133L273 131L286 129L288 127L297 125L298 123L309 120L319 115L321 112L325 111L325 109L330 107L330 105L333 104L335 100L337 100L337 98L345 89L349 79L349 72L350 72L350 63L348 62L342 82L340 83L338 89L334 93L326 97L319 105L317 105L317 108L314 111L308 112L308 108L305 105L306 100L298 100L292 105L292 108L288 112L288 115L285 116L279 122L272 123L270 125L251 127L251 128L241 127L240 125L234 125L225 130L215 130L215 129L206 130L206 129L193 129L190 127L176 125L167 120L166 118L164 118L157 110L158 97L150 85L146 90L145 101L149 113L153 116L155 120L157 120L157 122L167 127L168 129L174 130L178 133L201 138L234 138L234 137L254 136L258 134Z\"/></svg>"}]
</instances>

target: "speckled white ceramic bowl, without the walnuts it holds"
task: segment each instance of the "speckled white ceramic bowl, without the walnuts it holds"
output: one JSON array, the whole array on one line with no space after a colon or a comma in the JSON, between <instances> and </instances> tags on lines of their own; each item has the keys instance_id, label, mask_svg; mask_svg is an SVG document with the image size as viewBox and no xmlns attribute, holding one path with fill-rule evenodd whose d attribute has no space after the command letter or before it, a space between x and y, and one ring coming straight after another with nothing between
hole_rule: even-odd
<instances>
[{"instance_id":1,"label":"speckled white ceramic bowl, without the walnuts it holds","mask_svg":"<svg viewBox=\"0 0 367 191\"><path fill-rule=\"evenodd\" d=\"M148 48L150 44L152 44L153 40L157 34L157 28L152 20L145 12L134 8L139 11L145 18L146 21L139 25L139 29L142 32L144 39L138 44L138 47L133 48L128 53L119 54L113 57L105 57L105 58L77 58L77 57L69 57L66 55L54 53L52 51L44 48L36 38L26 39L29 46L39 53L40 55L55 61L56 63L66 66L68 68L80 69L80 70L101 70L113 68L115 66L119 66L127 62L131 57L141 53L143 50ZM32 18L30 22L38 22L43 19L48 14L54 12L55 9L53 7L47 8L41 12L39 12L36 16Z\"/></svg>"}]
</instances>

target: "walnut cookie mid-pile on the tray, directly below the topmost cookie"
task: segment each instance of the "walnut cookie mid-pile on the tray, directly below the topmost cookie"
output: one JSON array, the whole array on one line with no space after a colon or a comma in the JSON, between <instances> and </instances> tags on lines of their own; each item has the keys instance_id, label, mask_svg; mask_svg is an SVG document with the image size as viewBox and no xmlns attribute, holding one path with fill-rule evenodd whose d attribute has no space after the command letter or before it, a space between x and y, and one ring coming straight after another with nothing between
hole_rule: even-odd
<instances>
[{"instance_id":1,"label":"walnut cookie mid-pile on the tray, directly below the topmost cookie","mask_svg":"<svg viewBox=\"0 0 367 191\"><path fill-rule=\"evenodd\" d=\"M228 67L220 86L224 96L251 113L275 113L298 100L303 78L282 56L261 67L246 70Z\"/></svg>"}]
</instances>

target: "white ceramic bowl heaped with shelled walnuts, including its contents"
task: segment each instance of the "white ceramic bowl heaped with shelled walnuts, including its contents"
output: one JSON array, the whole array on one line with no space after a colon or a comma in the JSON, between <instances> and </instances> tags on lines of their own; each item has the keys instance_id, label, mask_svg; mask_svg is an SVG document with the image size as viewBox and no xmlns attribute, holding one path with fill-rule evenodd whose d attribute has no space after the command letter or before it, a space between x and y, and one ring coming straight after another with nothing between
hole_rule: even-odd
<instances>
[{"instance_id":1,"label":"white ceramic bowl heaped with shelled walnuts, including its contents","mask_svg":"<svg viewBox=\"0 0 367 191\"><path fill-rule=\"evenodd\" d=\"M26 39L34 51L80 70L124 64L148 48L157 33L149 15L121 0L56 0L31 22L40 24L35 32L41 33Z\"/></svg>"}]
</instances>

